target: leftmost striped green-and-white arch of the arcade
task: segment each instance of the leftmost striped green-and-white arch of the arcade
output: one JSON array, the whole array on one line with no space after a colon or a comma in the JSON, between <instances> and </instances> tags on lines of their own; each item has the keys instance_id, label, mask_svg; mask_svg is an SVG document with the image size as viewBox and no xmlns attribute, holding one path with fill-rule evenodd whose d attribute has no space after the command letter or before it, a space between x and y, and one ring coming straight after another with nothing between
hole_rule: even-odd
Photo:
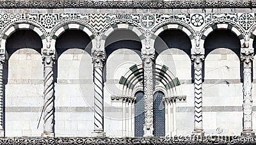
<instances>
[{"instance_id":1,"label":"leftmost striped green-and-white arch of the arcade","mask_svg":"<svg viewBox=\"0 0 256 145\"><path fill-rule=\"evenodd\" d=\"M20 29L29 29L31 31L34 31L36 34L38 34L38 36L40 36L42 40L43 48L47 48L46 36L43 33L43 31L41 31L39 26L36 26L35 24L31 24L31 23L19 22L19 23L12 24L10 27L8 27L8 29L6 29L6 31L4 31L4 34L1 37L2 49L0 50L0 54L6 54L6 40L11 36L11 34L13 34L15 31L18 31Z\"/></svg>"}]
</instances>

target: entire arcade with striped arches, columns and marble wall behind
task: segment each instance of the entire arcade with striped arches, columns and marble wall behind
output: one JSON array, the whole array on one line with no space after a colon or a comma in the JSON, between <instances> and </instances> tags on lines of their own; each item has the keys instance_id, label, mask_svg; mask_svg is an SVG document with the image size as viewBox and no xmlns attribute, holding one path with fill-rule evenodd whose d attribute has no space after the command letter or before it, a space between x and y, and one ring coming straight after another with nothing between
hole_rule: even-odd
<instances>
[{"instance_id":1,"label":"entire arcade with striped arches, columns and marble wall behind","mask_svg":"<svg viewBox=\"0 0 256 145\"><path fill-rule=\"evenodd\" d=\"M255 28L119 14L29 14L56 22L3 27L2 137L254 136Z\"/></svg>"}]
</instances>

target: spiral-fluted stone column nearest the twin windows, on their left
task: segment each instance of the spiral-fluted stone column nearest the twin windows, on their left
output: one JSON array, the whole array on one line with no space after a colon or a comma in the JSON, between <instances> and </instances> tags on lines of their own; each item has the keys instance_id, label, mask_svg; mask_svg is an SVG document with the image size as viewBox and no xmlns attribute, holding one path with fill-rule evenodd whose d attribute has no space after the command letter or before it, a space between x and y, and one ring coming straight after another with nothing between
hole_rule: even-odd
<instances>
[{"instance_id":1,"label":"spiral-fluted stone column nearest the twin windows, on their left","mask_svg":"<svg viewBox=\"0 0 256 145\"><path fill-rule=\"evenodd\" d=\"M93 82L94 82L94 130L93 136L105 137L103 130L103 63L104 52L93 54Z\"/></svg>"}]
</instances>

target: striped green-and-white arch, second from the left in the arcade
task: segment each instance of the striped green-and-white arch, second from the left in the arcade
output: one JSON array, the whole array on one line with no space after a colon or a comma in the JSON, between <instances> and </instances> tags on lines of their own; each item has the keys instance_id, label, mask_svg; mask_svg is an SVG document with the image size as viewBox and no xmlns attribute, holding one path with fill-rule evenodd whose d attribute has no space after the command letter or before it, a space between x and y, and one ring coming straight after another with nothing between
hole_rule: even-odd
<instances>
[{"instance_id":1,"label":"striped green-and-white arch, second from the left in the arcade","mask_svg":"<svg viewBox=\"0 0 256 145\"><path fill-rule=\"evenodd\" d=\"M71 29L80 30L88 34L88 36L92 40L92 48L96 47L96 40L95 40L96 35L95 33L93 33L91 29L89 29L87 26L83 24L79 24L78 22L69 22L69 23L64 23L59 26L56 26L53 29L51 33L51 49L55 50L55 44L56 44L57 38L65 31L71 30Z\"/></svg>"}]
</instances>

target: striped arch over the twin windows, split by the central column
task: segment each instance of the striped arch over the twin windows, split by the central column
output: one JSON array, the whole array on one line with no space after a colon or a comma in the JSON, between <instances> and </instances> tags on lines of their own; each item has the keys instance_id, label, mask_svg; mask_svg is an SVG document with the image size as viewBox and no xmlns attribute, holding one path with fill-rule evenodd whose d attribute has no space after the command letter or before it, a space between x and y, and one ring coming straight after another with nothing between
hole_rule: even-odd
<instances>
[{"instance_id":1,"label":"striped arch over the twin windows, split by the central column","mask_svg":"<svg viewBox=\"0 0 256 145\"><path fill-rule=\"evenodd\" d=\"M179 79L170 72L169 68L165 65L157 65L153 72L156 78L156 90L164 91L164 95L172 96L176 95L176 86L180 85ZM131 96L134 95L138 90L143 90L143 65L133 65L129 68L129 71L119 80L120 90L122 95Z\"/></svg>"}]
</instances>

